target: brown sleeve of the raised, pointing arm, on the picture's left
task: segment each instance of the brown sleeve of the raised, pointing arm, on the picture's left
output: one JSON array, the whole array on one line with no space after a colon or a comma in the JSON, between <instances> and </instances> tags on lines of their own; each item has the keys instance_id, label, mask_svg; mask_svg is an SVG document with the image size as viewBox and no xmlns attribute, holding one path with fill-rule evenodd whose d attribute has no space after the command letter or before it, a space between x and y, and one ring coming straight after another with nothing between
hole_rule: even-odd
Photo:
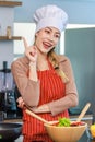
<instances>
[{"instance_id":1,"label":"brown sleeve of the raised, pointing arm, on the picture's left","mask_svg":"<svg viewBox=\"0 0 95 142\"><path fill-rule=\"evenodd\" d=\"M15 84L27 106L37 106L39 102L39 81L35 82L27 76L28 66L21 60L16 60L11 64L11 71Z\"/></svg>"}]
</instances>

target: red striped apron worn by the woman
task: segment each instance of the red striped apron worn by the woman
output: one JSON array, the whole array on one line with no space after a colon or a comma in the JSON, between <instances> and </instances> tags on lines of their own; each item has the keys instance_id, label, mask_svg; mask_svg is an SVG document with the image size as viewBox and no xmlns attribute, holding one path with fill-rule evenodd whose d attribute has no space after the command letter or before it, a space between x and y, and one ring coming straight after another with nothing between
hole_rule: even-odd
<instances>
[{"instance_id":1,"label":"red striped apron worn by the woman","mask_svg":"<svg viewBox=\"0 0 95 142\"><path fill-rule=\"evenodd\" d=\"M40 81L39 105L54 102L66 95L66 84L52 67L50 70L38 71L37 73ZM58 120L59 117L69 117L68 110L56 116L48 113L38 115L48 121ZM25 110L23 110L23 142L52 142L44 128L44 123L26 114Z\"/></svg>"}]
</instances>

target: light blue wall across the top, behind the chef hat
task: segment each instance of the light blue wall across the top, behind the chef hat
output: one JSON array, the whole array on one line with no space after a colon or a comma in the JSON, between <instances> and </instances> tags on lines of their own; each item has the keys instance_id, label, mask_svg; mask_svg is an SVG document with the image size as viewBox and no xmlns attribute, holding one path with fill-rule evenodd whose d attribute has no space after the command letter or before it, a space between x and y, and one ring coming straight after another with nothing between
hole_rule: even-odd
<instances>
[{"instance_id":1,"label":"light blue wall across the top, behind the chef hat","mask_svg":"<svg viewBox=\"0 0 95 142\"><path fill-rule=\"evenodd\" d=\"M95 24L95 0L22 0L15 8L16 22L32 22L35 10L45 4L57 4L69 14L69 23Z\"/></svg>"}]
</instances>

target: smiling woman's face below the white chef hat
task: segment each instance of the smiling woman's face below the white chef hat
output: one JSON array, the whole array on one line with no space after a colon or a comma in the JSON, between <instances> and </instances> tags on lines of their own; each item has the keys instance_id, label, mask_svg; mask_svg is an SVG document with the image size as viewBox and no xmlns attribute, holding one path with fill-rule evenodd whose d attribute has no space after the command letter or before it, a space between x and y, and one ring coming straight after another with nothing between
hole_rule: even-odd
<instances>
[{"instance_id":1,"label":"smiling woman's face below the white chef hat","mask_svg":"<svg viewBox=\"0 0 95 142\"><path fill-rule=\"evenodd\" d=\"M60 32L55 27L45 27L36 33L35 45L38 51L48 54L60 38Z\"/></svg>"}]
</instances>

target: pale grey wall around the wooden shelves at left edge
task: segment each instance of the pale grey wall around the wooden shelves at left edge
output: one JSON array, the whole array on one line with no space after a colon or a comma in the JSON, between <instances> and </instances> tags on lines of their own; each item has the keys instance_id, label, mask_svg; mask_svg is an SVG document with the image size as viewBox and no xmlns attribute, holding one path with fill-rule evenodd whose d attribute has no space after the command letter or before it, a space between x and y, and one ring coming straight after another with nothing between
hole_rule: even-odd
<instances>
[{"instance_id":1,"label":"pale grey wall around the wooden shelves at left edge","mask_svg":"<svg viewBox=\"0 0 95 142\"><path fill-rule=\"evenodd\" d=\"M14 9L8 7L0 7L0 35L7 35L7 26L13 27ZM8 61L10 67L13 60L13 42L0 40L0 69L2 69L2 61Z\"/></svg>"}]
</instances>

